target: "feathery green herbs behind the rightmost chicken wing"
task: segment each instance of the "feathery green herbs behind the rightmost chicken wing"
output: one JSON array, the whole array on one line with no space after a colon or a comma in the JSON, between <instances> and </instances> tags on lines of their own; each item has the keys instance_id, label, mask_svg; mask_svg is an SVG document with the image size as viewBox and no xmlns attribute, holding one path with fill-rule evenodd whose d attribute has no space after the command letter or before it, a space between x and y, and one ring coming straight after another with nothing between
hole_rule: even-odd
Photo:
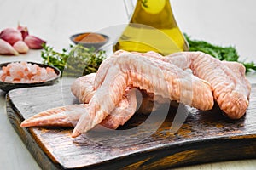
<instances>
[{"instance_id":1,"label":"feathery green herbs behind the rightmost chicken wing","mask_svg":"<svg viewBox=\"0 0 256 170\"><path fill-rule=\"evenodd\" d=\"M246 72L256 71L255 63L246 63L238 60L239 55L234 47L220 47L205 41L191 40L187 34L184 34L184 36L189 42L189 51L201 51L210 54L219 60L236 61L245 66Z\"/></svg>"}]
</instances>

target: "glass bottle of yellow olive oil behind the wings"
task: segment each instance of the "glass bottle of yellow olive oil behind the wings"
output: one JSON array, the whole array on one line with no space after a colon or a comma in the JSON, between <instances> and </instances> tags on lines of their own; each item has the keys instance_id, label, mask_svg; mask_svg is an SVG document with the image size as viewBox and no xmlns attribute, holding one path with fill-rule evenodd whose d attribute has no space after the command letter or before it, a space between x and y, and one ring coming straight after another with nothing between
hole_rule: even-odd
<instances>
[{"instance_id":1,"label":"glass bottle of yellow olive oil behind the wings","mask_svg":"<svg viewBox=\"0 0 256 170\"><path fill-rule=\"evenodd\" d=\"M137 0L131 21L113 51L172 54L189 50L188 42L177 27L169 0Z\"/></svg>"}]
</instances>

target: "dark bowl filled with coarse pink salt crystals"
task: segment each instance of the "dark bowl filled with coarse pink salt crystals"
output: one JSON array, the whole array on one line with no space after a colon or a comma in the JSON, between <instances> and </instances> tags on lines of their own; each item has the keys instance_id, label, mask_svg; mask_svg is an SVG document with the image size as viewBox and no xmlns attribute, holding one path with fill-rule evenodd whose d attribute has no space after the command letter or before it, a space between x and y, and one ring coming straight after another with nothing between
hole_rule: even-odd
<instances>
[{"instance_id":1,"label":"dark bowl filled with coarse pink salt crystals","mask_svg":"<svg viewBox=\"0 0 256 170\"><path fill-rule=\"evenodd\" d=\"M26 61L0 64L0 89L6 92L14 88L53 85L59 77L61 71L51 65Z\"/></svg>"}]
</instances>

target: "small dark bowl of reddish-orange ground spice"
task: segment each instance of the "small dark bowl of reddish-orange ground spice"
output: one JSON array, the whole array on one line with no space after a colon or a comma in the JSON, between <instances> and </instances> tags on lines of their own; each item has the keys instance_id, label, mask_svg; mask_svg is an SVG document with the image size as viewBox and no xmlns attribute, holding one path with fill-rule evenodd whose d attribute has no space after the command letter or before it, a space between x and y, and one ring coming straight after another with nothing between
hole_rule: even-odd
<instances>
[{"instance_id":1,"label":"small dark bowl of reddish-orange ground spice","mask_svg":"<svg viewBox=\"0 0 256 170\"><path fill-rule=\"evenodd\" d=\"M70 40L75 44L83 45L85 48L94 47L98 49L108 42L108 36L100 33L84 32L74 34L70 37Z\"/></svg>"}]
</instances>

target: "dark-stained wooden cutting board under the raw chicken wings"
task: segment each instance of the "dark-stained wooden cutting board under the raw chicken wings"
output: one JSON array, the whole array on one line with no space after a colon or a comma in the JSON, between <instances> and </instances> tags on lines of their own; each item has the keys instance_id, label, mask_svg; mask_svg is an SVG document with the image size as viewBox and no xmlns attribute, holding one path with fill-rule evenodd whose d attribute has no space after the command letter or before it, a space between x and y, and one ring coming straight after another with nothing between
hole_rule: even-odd
<instances>
[{"instance_id":1,"label":"dark-stained wooden cutting board under the raw chicken wings","mask_svg":"<svg viewBox=\"0 0 256 170\"><path fill-rule=\"evenodd\" d=\"M74 103L69 86L20 88L7 94L9 121L43 169L165 169L256 158L255 85L247 114L240 120L226 118L218 105L212 111L187 107L189 115L176 133L170 131L177 111L172 106L150 135L148 129L154 127L150 121L137 133L113 136L94 130L76 139L70 137L72 128L20 127L21 121L39 111ZM157 120L158 115L152 115ZM145 120L147 116L137 114L119 132L139 127Z\"/></svg>"}]
</instances>

